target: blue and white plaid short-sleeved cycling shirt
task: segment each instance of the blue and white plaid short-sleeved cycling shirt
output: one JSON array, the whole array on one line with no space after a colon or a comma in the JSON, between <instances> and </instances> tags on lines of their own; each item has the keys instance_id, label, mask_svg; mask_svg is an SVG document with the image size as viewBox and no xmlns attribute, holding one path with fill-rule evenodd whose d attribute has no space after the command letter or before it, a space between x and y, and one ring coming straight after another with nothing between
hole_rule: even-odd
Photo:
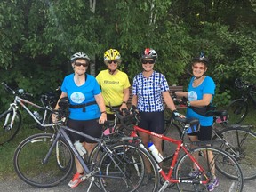
<instances>
[{"instance_id":1,"label":"blue and white plaid short-sleeved cycling shirt","mask_svg":"<svg viewBox=\"0 0 256 192\"><path fill-rule=\"evenodd\" d=\"M169 86L163 74L154 71L149 78L142 73L133 78L132 94L138 97L139 111L164 111L162 93L169 91Z\"/></svg>"}]
</instances>

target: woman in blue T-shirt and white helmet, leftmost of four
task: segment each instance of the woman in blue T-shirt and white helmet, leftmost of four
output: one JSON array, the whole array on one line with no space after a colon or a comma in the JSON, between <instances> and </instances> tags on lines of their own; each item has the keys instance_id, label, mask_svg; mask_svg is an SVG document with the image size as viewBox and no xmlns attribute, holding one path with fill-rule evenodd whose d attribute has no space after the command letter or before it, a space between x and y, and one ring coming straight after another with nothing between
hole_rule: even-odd
<instances>
[{"instance_id":1,"label":"woman in blue T-shirt and white helmet, leftmost of four","mask_svg":"<svg viewBox=\"0 0 256 192\"><path fill-rule=\"evenodd\" d=\"M100 124L107 120L107 113L99 84L94 76L86 74L90 59L84 52L76 52L71 56L70 61L74 73L65 76L60 95L60 99L68 97L70 103L67 125L79 132L100 138L102 134ZM55 109L59 108L58 103ZM52 120L55 120L55 115L52 115ZM83 143L89 154L95 146L92 140L85 139L76 133L70 132L69 136L72 142ZM82 182L81 177L84 174L83 167L77 159L75 159L75 163L76 174L68 183L70 188L76 188Z\"/></svg>"}]
</instances>

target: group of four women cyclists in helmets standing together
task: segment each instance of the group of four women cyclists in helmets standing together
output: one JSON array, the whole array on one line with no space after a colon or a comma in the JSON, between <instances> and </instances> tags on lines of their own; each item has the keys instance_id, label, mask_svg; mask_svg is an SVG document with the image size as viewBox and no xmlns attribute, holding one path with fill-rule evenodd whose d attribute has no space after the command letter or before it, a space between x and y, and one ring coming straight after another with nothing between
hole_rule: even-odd
<instances>
[{"instance_id":1,"label":"group of four women cyclists in helmets standing together","mask_svg":"<svg viewBox=\"0 0 256 192\"><path fill-rule=\"evenodd\" d=\"M146 48L140 57L142 71L133 78L132 82L132 106L135 106L140 113L139 126L150 132L158 134L164 133L164 103L172 110L172 116L181 115L173 103L169 93L169 85L162 73L154 70L157 64L157 53L152 48ZM111 108L122 110L127 108L129 100L129 87L131 86L127 74L119 70L122 63L120 53L116 49L108 49L104 52L104 63L107 69L100 71L95 77L86 73L90 65L90 58L84 52L76 52L71 56L71 66L74 73L65 76L61 85L60 99L68 97L69 116L68 127L79 132L84 132L92 137L100 138L103 124L107 119L114 119ZM213 117L205 116L207 106L212 102L215 92L215 84L212 77L206 76L205 72L209 65L209 60L204 54L194 58L191 63L193 77L188 84L188 92L176 92L179 97L188 98L187 117L199 119L201 129L199 132L192 132L188 137L192 141L211 140ZM59 100L60 100L59 99ZM164 99L164 101L163 101ZM59 101L58 101L59 102ZM59 108L59 105L55 109ZM56 116L52 115L52 120ZM75 143L79 140L88 153L96 145L92 140L85 140L77 134L69 135ZM139 136L145 146L151 140L158 151L162 152L162 140L154 136L139 132ZM70 188L76 188L82 182L84 175L81 164L76 162L76 174L69 181ZM159 164L161 166L161 164ZM148 171L148 174L150 171ZM189 175L196 175L196 167ZM219 185L219 180L215 177L212 169L213 180L208 185L208 190L212 191Z\"/></svg>"}]
</instances>

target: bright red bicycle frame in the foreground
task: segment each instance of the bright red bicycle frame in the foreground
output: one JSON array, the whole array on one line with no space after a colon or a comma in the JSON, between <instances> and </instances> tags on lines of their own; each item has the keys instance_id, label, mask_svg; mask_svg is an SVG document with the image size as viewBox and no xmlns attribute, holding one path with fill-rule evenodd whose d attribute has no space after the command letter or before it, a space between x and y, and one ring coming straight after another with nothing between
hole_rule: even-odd
<instances>
[{"instance_id":1,"label":"bright red bicycle frame in the foreground","mask_svg":"<svg viewBox=\"0 0 256 192\"><path fill-rule=\"evenodd\" d=\"M185 125L185 127L188 128L189 125ZM165 174L165 172L158 165L158 170L159 170L160 174L162 175L162 177L165 180L163 187L159 191L162 191L164 188L166 188L170 182L172 182L172 183L188 182L188 180L180 180L180 179L172 178L172 172L173 172L174 166L175 166L175 164L176 164L176 162L178 160L178 157L179 157L181 149L189 156L191 161L196 165L197 169L200 172L204 172L204 168L200 164L198 164L198 162L196 161L194 156L189 154L188 149L185 147L185 145L183 143L183 138L184 138L184 135L185 135L186 128L183 130L182 135L180 137L180 140L175 140L175 139L166 137L163 134L157 134L155 132L149 132L148 130L144 130L144 129L140 128L137 125L134 125L133 128L134 128L135 131L145 132L148 135L155 136L155 137L160 138L162 140L167 140L168 142L172 142L173 144L177 145L177 148L175 150L174 156L172 158L172 163L171 163L169 172L167 174ZM207 180L202 181L202 184L207 184L210 181L210 179L208 178L208 176L206 176L206 175L204 175L204 176L205 176L205 178L207 178Z\"/></svg>"}]
</instances>

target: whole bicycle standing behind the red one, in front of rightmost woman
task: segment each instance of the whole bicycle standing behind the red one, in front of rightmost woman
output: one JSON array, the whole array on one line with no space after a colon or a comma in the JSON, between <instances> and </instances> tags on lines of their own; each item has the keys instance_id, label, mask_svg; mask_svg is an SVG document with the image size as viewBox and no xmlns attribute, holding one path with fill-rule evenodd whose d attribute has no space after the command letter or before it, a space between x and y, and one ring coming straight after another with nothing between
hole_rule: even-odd
<instances>
[{"instance_id":1,"label":"whole bicycle standing behind the red one, in front of rightmost woman","mask_svg":"<svg viewBox=\"0 0 256 192\"><path fill-rule=\"evenodd\" d=\"M253 180L256 178L256 164L254 155L254 145L256 143L256 133L252 131L252 125L228 124L228 113L226 110L212 111L213 129L212 140L221 141L218 148L227 151L231 156L235 157L237 163L244 175L244 180ZM220 124L219 128L216 124ZM182 126L180 122L175 123L172 117L169 119L165 136L172 136L172 132L181 132ZM180 134L181 135L181 134ZM174 135L175 138L179 134ZM164 161L173 157L170 153L171 143L164 142ZM169 152L168 152L169 151ZM172 150L173 151L173 150Z\"/></svg>"}]
</instances>

